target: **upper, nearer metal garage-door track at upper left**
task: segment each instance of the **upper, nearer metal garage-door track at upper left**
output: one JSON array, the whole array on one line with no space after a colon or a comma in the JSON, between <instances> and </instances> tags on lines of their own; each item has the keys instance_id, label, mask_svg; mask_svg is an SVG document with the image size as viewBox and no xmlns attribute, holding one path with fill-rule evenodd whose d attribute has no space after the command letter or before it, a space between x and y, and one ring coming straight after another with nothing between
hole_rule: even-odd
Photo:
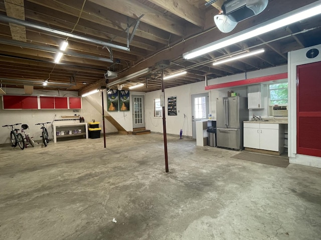
<instances>
[{"instance_id":1,"label":"upper, nearer metal garage-door track at upper left","mask_svg":"<svg viewBox=\"0 0 321 240\"><path fill-rule=\"evenodd\" d=\"M17 18L6 16L6 15L0 15L0 21L9 22L9 23L15 23L15 24L18 24L18 25L32 27L32 28L36 28L36 29L39 29L39 30L52 32L52 33L55 33L55 34L58 34L58 35L71 37L71 38L75 38L75 39L79 39L79 40L95 43L95 44L102 45L102 46L112 47L112 48L116 48L116 49L120 49L120 50L124 50L124 51L130 51L129 47L126 47L126 46L120 46L120 45L112 44L110 42L101 41L101 40L97 40L97 39L94 39L94 38L85 37L85 36L77 35L77 34L74 34L74 33L70 33L68 31L62 31L62 30L51 28L51 27L38 25L38 24L35 24L35 23L32 23L32 22L20 20L20 19L17 19Z\"/></svg>"}]
</instances>

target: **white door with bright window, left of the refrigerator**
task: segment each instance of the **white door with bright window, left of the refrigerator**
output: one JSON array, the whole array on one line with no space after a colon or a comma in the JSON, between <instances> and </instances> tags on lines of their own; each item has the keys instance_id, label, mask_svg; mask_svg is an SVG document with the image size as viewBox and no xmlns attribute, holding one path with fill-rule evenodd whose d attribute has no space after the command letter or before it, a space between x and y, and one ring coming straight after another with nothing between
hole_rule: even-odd
<instances>
[{"instance_id":1,"label":"white door with bright window, left of the refrigerator","mask_svg":"<svg viewBox=\"0 0 321 240\"><path fill-rule=\"evenodd\" d=\"M196 121L207 119L209 115L209 93L192 95L192 136L196 139Z\"/></svg>"}]
</instances>

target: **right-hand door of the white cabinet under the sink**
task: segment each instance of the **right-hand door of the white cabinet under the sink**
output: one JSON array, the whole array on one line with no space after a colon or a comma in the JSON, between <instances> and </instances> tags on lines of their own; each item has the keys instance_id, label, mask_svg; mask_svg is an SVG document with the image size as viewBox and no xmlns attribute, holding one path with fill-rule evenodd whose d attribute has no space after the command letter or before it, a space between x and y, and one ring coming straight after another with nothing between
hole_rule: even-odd
<instances>
[{"instance_id":1,"label":"right-hand door of the white cabinet under the sink","mask_svg":"<svg viewBox=\"0 0 321 240\"><path fill-rule=\"evenodd\" d=\"M270 151L279 151L279 130L261 127L260 148Z\"/></svg>"}]
</instances>

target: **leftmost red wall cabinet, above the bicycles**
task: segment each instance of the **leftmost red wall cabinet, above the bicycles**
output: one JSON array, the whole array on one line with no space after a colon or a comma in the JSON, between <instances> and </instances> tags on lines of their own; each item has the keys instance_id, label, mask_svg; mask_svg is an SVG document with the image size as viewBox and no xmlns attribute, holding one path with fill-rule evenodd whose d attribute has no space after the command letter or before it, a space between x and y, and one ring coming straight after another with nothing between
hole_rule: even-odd
<instances>
[{"instance_id":1,"label":"leftmost red wall cabinet, above the bicycles","mask_svg":"<svg viewBox=\"0 0 321 240\"><path fill-rule=\"evenodd\" d=\"M4 95L4 109L38 109L37 96Z\"/></svg>"}]
</instances>

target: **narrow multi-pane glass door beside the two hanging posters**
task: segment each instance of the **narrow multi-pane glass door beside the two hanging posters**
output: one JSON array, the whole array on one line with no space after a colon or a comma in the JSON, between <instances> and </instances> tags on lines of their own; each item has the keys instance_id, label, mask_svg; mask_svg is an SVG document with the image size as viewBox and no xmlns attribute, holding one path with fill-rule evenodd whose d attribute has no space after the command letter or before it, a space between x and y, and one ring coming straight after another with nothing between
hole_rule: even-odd
<instances>
[{"instance_id":1,"label":"narrow multi-pane glass door beside the two hanging posters","mask_svg":"<svg viewBox=\"0 0 321 240\"><path fill-rule=\"evenodd\" d=\"M132 127L145 127L145 97L132 95Z\"/></svg>"}]
</instances>

